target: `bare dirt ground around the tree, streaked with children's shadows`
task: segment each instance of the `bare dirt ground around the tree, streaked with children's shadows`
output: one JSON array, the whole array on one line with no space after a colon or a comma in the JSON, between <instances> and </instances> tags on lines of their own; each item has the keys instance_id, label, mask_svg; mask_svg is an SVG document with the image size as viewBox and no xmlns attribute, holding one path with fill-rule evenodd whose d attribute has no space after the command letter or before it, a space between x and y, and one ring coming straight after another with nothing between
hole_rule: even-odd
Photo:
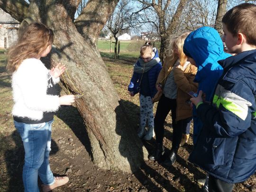
<instances>
[{"instance_id":1,"label":"bare dirt ground around the tree, streaked with children's shadows","mask_svg":"<svg viewBox=\"0 0 256 192\"><path fill-rule=\"evenodd\" d=\"M130 117L133 125L131 130L136 131L139 122L138 97L129 97L126 90L132 73L131 62L125 60L112 62L108 58L104 58L104 61ZM6 75L1 70L0 80ZM1 83L0 88L10 92L10 83ZM0 108L7 100L11 100L10 94L6 97L0 97ZM24 150L19 135L12 125L10 111L5 110L0 114L0 192L21 192ZM167 151L171 149L172 143L171 126L171 118L167 117L164 139ZM154 151L154 139L143 143L149 153ZM88 136L77 109L73 106L62 107L56 114L53 124L50 165L55 175L67 175L70 180L68 184L54 189L53 192L200 192L201 190L196 180L203 178L204 172L187 160L193 148L192 134L188 144L180 148L174 166L165 167L161 163L146 160L133 174L106 171L94 166L88 146L90 146ZM255 186L256 175L252 175L246 182L236 184L234 192L256 192Z\"/></svg>"}]
</instances>

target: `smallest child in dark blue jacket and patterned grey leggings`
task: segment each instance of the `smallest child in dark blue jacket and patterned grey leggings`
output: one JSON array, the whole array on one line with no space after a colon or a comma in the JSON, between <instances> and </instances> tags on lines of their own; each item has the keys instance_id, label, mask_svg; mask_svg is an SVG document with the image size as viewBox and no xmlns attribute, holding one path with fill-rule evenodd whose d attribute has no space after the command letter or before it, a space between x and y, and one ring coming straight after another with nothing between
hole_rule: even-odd
<instances>
[{"instance_id":1,"label":"smallest child in dark blue jacket and patterned grey leggings","mask_svg":"<svg viewBox=\"0 0 256 192\"><path fill-rule=\"evenodd\" d=\"M140 49L140 57L134 65L134 72L128 86L130 96L139 92L140 103L140 129L139 138L151 140L154 136L154 114L153 102L155 93L155 83L159 72L162 69L158 51L152 45L143 45ZM146 119L148 120L148 130L146 132Z\"/></svg>"}]
</instances>

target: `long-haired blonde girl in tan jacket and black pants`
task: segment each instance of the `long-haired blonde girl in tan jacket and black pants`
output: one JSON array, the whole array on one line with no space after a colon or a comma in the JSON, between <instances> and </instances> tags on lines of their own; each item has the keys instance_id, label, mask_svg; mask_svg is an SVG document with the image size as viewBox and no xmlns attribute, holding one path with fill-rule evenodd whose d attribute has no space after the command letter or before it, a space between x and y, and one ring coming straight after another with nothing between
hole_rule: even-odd
<instances>
[{"instance_id":1,"label":"long-haired blonde girl in tan jacket and black pants","mask_svg":"<svg viewBox=\"0 0 256 192\"><path fill-rule=\"evenodd\" d=\"M155 114L155 153L150 160L158 160L165 152L163 146L164 123L168 113L172 113L173 143L169 158L161 159L165 165L172 165L181 144L183 130L189 133L192 120L192 108L189 92L197 92L197 83L193 82L197 68L187 62L183 53L183 43L189 33L183 33L170 44L169 56L160 71L156 89L158 90L153 102L160 98Z\"/></svg>"}]
</instances>

